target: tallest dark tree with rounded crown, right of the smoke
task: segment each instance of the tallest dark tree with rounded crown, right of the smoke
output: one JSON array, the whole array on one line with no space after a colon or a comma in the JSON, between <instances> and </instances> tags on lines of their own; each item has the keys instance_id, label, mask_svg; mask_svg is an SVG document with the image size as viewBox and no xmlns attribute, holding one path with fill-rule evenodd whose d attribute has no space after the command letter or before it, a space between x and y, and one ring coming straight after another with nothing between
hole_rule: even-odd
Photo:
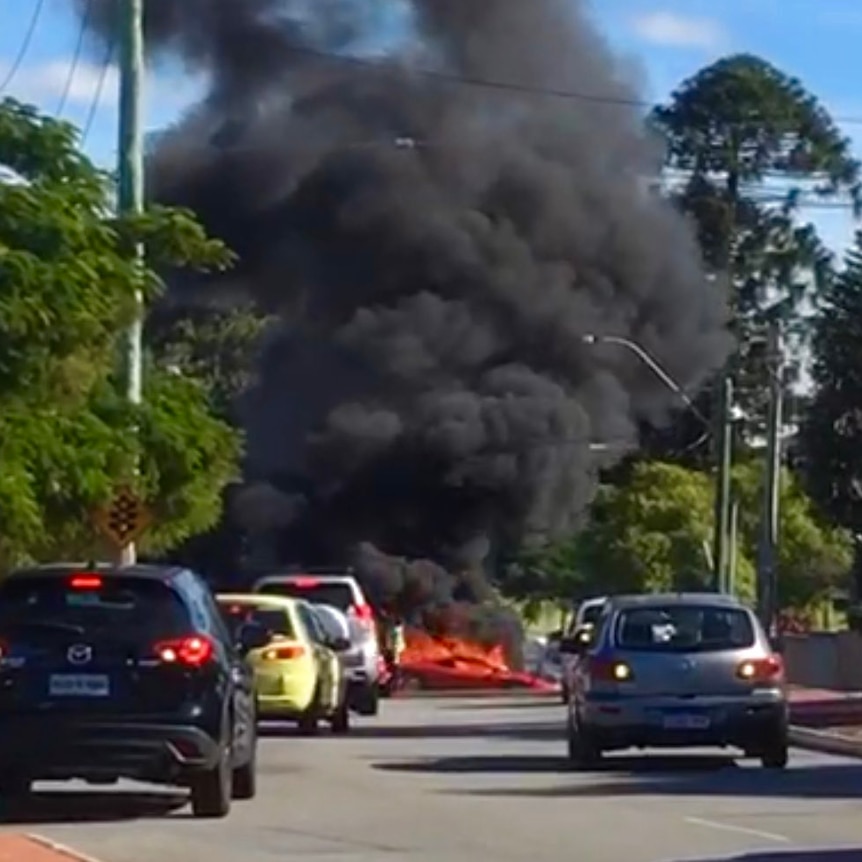
<instances>
[{"instance_id":1,"label":"tallest dark tree with rounded crown, right of the smoke","mask_svg":"<svg viewBox=\"0 0 862 862\"><path fill-rule=\"evenodd\" d=\"M667 143L671 194L694 221L708 269L728 280L737 389L749 430L760 430L764 324L781 320L799 346L808 335L803 300L826 290L832 276L831 255L814 226L799 222L799 207L830 198L858 211L859 163L798 80L747 54L683 82L651 122ZM706 397L702 408L710 410Z\"/></svg>"}]
</instances>

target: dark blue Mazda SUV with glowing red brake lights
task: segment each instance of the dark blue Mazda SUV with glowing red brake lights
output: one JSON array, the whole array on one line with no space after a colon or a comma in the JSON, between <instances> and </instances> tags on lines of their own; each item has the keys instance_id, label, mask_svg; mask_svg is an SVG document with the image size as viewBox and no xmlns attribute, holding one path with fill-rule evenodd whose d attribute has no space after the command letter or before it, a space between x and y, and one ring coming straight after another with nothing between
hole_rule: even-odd
<instances>
[{"instance_id":1,"label":"dark blue Mazda SUV with glowing red brake lights","mask_svg":"<svg viewBox=\"0 0 862 862\"><path fill-rule=\"evenodd\" d=\"M197 817L255 794L244 654L206 583L166 566L40 566L0 582L0 796L36 780L189 787Z\"/></svg>"}]
</instances>

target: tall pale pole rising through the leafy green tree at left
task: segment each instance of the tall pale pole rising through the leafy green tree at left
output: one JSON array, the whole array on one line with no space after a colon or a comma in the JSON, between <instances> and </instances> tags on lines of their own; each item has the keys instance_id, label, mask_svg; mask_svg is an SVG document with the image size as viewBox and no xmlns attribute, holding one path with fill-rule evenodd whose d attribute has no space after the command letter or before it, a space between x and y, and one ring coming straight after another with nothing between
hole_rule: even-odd
<instances>
[{"instance_id":1,"label":"tall pale pole rising through the leafy green tree at left","mask_svg":"<svg viewBox=\"0 0 862 862\"><path fill-rule=\"evenodd\" d=\"M120 44L120 126L117 169L117 209L121 214L139 215L144 210L143 83L144 83L144 0L122 0ZM143 268L142 246L133 249ZM126 333L124 374L126 395L131 404L141 403L143 294L135 292L135 316ZM121 554L129 565L137 558L134 544Z\"/></svg>"}]
</instances>

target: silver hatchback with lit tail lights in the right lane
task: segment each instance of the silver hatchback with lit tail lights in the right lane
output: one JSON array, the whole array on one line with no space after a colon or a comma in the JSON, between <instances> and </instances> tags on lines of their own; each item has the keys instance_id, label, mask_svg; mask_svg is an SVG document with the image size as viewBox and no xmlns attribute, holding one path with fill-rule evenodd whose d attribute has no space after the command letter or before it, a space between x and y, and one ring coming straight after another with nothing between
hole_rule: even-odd
<instances>
[{"instance_id":1,"label":"silver hatchback with lit tail lights in the right lane","mask_svg":"<svg viewBox=\"0 0 862 862\"><path fill-rule=\"evenodd\" d=\"M566 639L570 759L625 748L740 748L787 765L784 666L754 614L717 593L619 596L592 637Z\"/></svg>"}]
</instances>

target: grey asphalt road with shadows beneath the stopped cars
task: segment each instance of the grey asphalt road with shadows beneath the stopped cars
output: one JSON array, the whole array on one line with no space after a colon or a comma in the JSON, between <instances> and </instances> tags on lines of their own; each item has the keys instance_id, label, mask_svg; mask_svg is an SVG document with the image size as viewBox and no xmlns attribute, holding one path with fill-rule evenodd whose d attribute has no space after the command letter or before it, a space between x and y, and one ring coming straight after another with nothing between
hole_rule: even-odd
<instances>
[{"instance_id":1,"label":"grey asphalt road with shadows beneath the stopped cars","mask_svg":"<svg viewBox=\"0 0 862 862\"><path fill-rule=\"evenodd\" d=\"M562 719L547 701L393 701L350 737L268 732L259 797L223 821L140 786L41 785L2 829L102 862L862 860L862 761L798 751L770 773L690 752L573 773Z\"/></svg>"}]
</instances>

